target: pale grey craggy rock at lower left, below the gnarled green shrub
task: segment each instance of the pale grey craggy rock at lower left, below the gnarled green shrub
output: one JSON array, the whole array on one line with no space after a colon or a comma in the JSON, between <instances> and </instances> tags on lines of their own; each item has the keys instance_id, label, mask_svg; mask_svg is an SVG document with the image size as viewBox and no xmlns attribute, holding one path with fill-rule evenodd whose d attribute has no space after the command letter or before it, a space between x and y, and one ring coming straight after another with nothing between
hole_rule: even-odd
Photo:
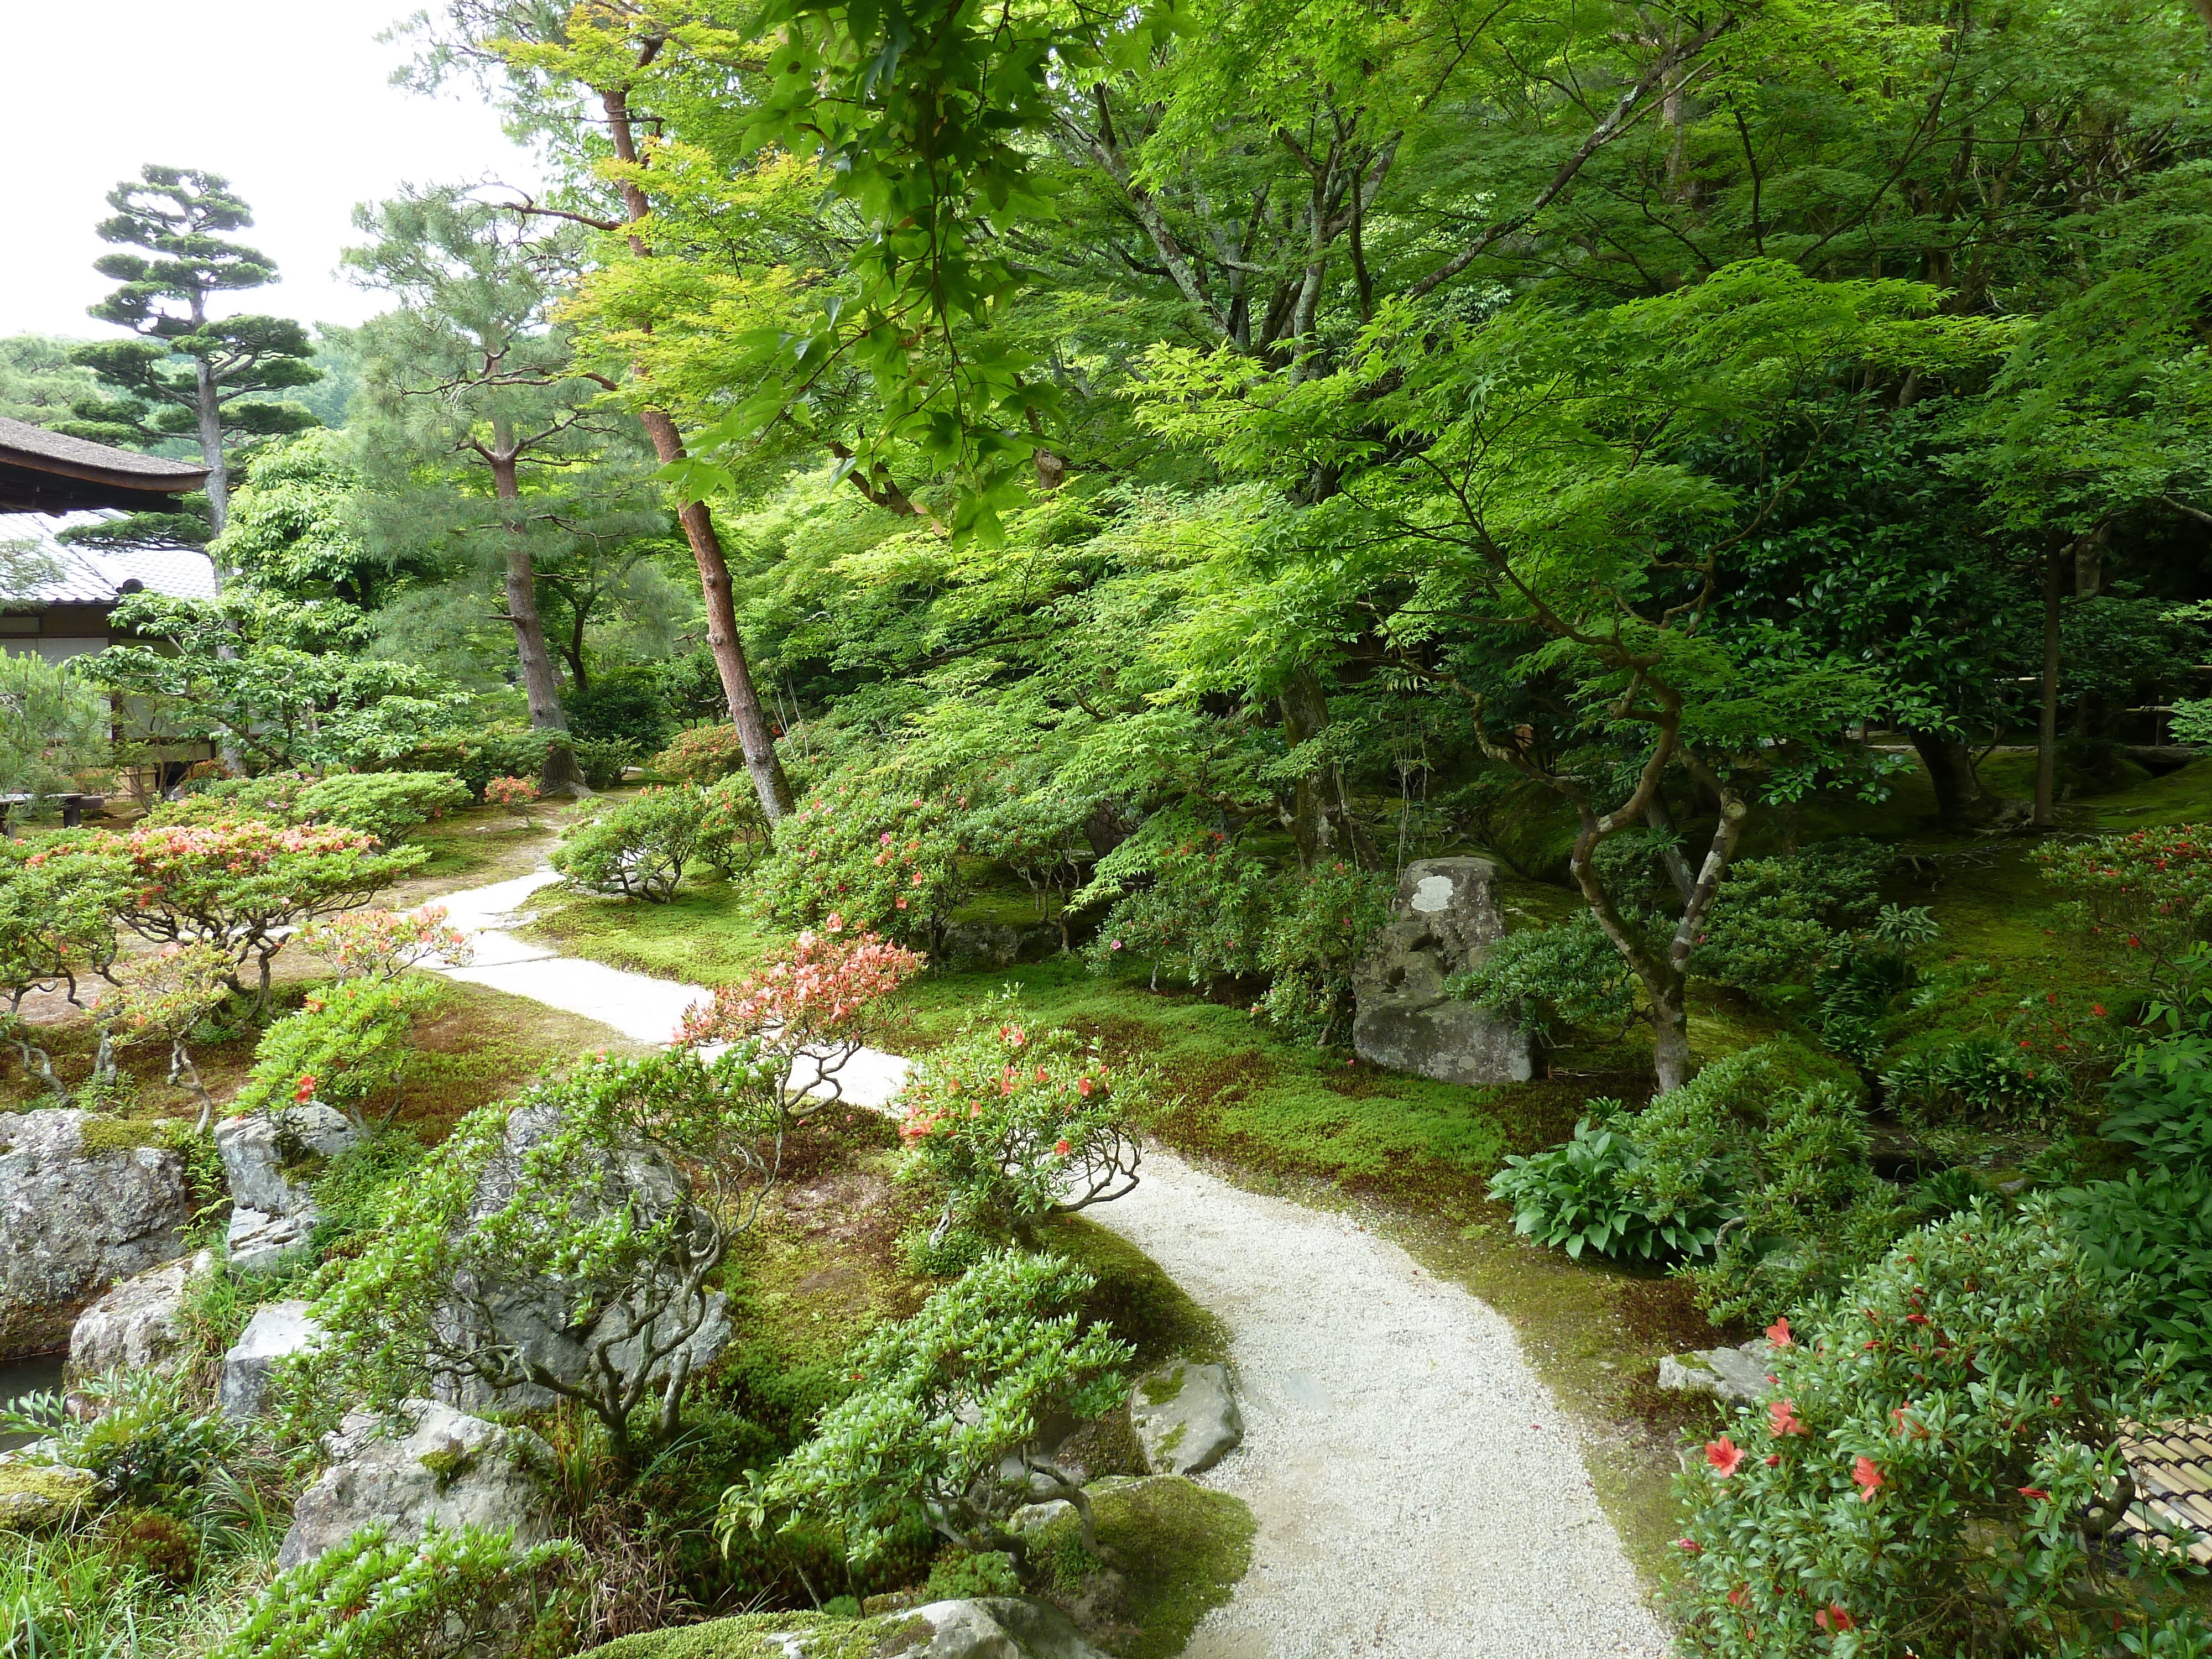
<instances>
[{"instance_id":1,"label":"pale grey craggy rock at lower left, below the gnarled green shrub","mask_svg":"<svg viewBox=\"0 0 2212 1659\"><path fill-rule=\"evenodd\" d=\"M504 1429L436 1400L409 1400L398 1418L354 1411L327 1440L330 1469L292 1506L276 1566L312 1562L363 1526L400 1542L440 1528L513 1528L518 1544L549 1533L544 1491L526 1464L553 1451L529 1429Z\"/></svg>"}]
</instances>

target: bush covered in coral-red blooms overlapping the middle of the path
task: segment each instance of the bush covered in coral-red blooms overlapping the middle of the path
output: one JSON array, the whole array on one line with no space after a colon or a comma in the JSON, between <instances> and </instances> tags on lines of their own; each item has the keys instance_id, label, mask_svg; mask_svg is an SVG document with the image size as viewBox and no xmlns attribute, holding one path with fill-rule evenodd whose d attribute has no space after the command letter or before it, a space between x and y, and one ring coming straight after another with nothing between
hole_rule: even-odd
<instances>
[{"instance_id":1,"label":"bush covered in coral-red blooms overlapping the middle of the path","mask_svg":"<svg viewBox=\"0 0 2212 1659\"><path fill-rule=\"evenodd\" d=\"M743 984L714 987L708 1002L684 1013L675 1040L750 1046L754 1064L774 1071L779 1097L843 1097L841 1073L880 1024L880 1002L927 962L918 951L876 938L865 927L805 931L770 956Z\"/></svg>"}]
</instances>

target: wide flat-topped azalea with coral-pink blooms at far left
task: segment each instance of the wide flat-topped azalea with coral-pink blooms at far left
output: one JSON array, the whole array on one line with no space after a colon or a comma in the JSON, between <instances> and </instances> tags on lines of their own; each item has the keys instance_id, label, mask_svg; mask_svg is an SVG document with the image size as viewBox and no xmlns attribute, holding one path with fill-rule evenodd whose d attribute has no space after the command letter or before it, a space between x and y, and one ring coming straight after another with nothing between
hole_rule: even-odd
<instances>
[{"instance_id":1,"label":"wide flat-topped azalea with coral-pink blooms at far left","mask_svg":"<svg viewBox=\"0 0 2212 1659\"><path fill-rule=\"evenodd\" d=\"M84 847L124 889L124 927L157 945L221 947L239 989L252 964L259 1009L268 1009L270 962L296 927L361 909L429 856L420 847L387 852L363 830L259 818L102 832Z\"/></svg>"}]
</instances>

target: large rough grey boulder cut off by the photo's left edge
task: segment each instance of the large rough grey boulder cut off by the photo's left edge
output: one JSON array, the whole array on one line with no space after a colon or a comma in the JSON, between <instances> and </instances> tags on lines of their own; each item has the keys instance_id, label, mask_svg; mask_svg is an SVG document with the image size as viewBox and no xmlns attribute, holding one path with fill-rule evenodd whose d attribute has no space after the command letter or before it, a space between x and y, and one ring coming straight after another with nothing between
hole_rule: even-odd
<instances>
[{"instance_id":1,"label":"large rough grey boulder cut off by the photo's left edge","mask_svg":"<svg viewBox=\"0 0 2212 1659\"><path fill-rule=\"evenodd\" d=\"M0 1117L0 1358L69 1340L117 1279L184 1254L184 1155L75 1108Z\"/></svg>"}]
</instances>

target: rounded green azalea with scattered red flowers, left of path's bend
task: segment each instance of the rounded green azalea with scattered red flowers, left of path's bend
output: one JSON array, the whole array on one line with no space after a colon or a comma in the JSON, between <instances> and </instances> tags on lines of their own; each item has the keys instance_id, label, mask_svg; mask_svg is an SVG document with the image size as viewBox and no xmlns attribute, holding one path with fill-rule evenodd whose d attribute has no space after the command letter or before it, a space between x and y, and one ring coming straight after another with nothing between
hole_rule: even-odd
<instances>
[{"instance_id":1,"label":"rounded green azalea with scattered red flowers, left of path's bend","mask_svg":"<svg viewBox=\"0 0 2212 1659\"><path fill-rule=\"evenodd\" d=\"M989 1000L914 1062L896 1102L909 1170L947 1194L931 1245L953 1228L1026 1239L1048 1214L1128 1197L1146 1084L1108 1077L1095 1044L1037 1031L1011 995Z\"/></svg>"}]
</instances>

